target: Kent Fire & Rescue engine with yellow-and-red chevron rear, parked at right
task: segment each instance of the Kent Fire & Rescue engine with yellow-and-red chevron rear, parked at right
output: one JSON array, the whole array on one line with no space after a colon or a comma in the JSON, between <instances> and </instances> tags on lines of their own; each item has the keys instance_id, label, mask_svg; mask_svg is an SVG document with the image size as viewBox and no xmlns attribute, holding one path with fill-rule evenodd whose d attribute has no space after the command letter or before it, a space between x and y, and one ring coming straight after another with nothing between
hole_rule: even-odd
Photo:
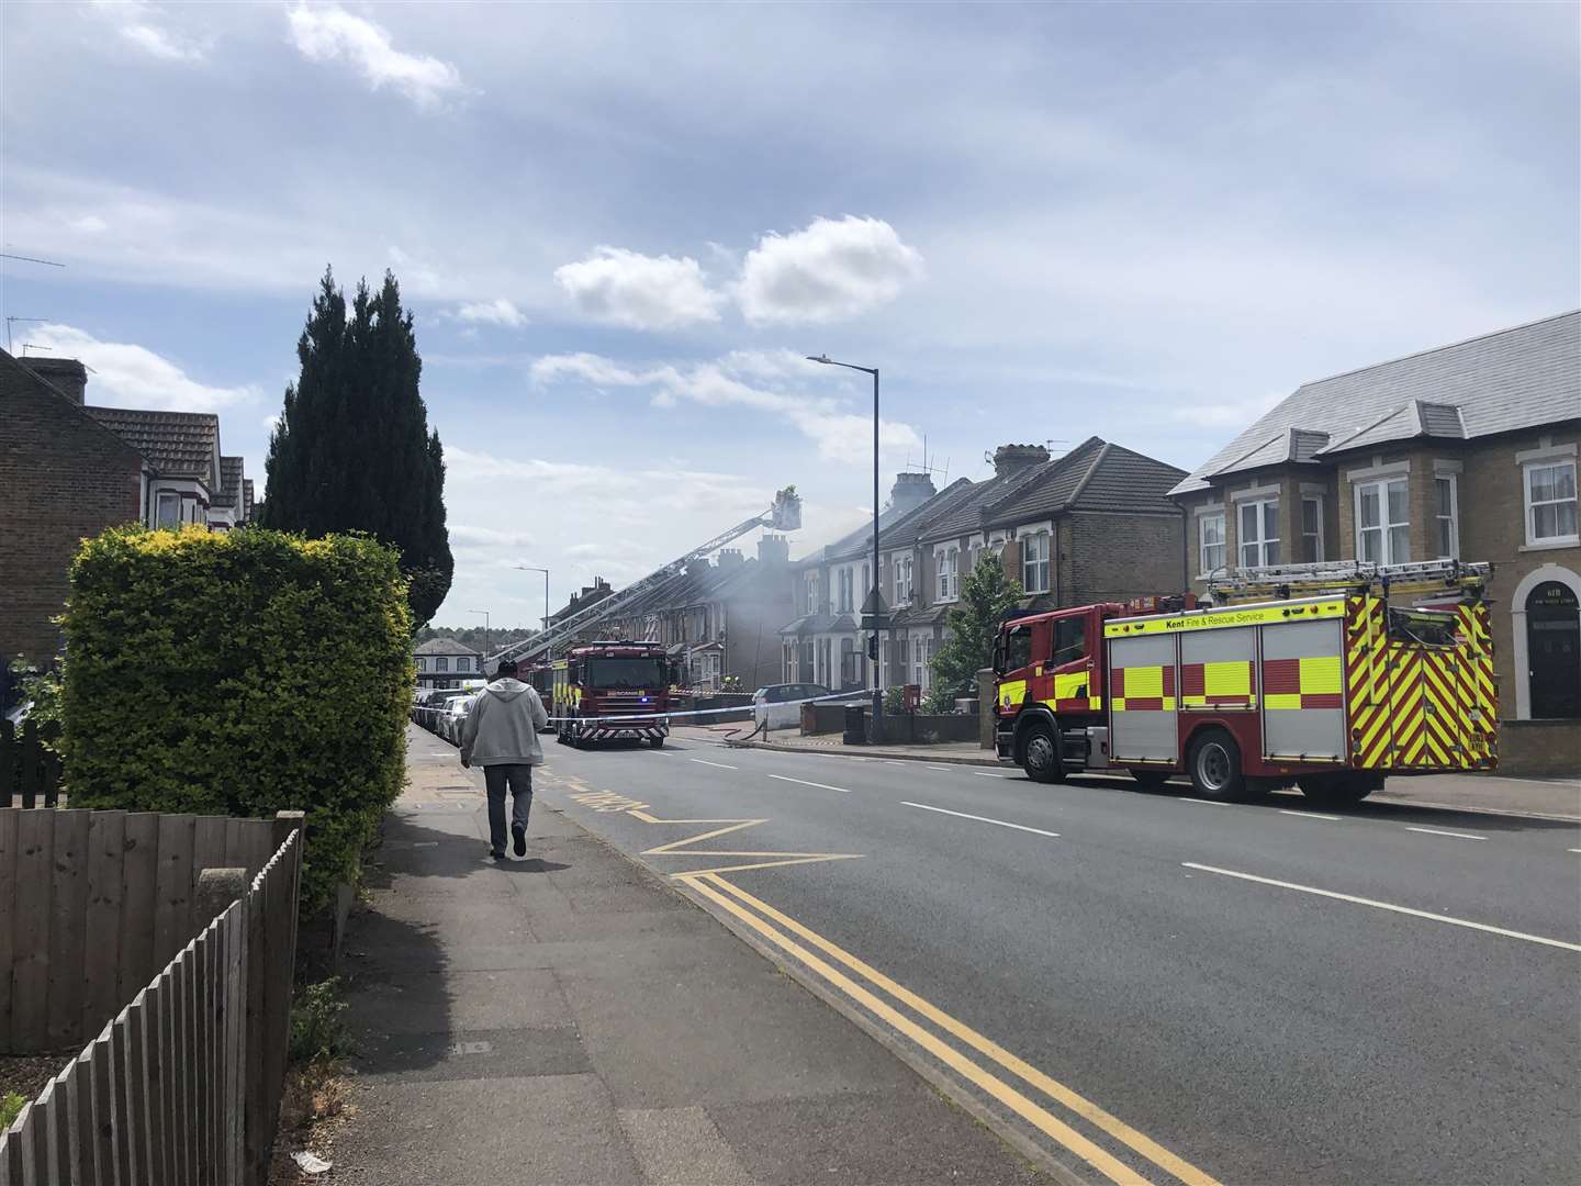
<instances>
[{"instance_id":1,"label":"Kent Fire & Rescue engine with yellow-and-red chevron rear, parked at right","mask_svg":"<svg viewBox=\"0 0 1581 1186\"><path fill-rule=\"evenodd\" d=\"M1186 773L1246 800L1353 803L1385 775L1497 764L1486 565L1241 569L1190 595L1007 620L996 748L1040 783ZM1410 607L1390 596L1420 595ZM1243 598L1251 601L1241 604Z\"/></svg>"}]
</instances>

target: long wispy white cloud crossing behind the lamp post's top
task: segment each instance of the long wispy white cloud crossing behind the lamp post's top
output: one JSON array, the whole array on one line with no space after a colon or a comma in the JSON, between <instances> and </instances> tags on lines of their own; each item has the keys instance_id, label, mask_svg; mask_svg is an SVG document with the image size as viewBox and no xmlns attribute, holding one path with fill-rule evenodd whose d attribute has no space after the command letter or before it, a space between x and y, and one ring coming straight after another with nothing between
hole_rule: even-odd
<instances>
[{"instance_id":1,"label":"long wispy white cloud crossing behind the lamp post's top","mask_svg":"<svg viewBox=\"0 0 1581 1186\"><path fill-rule=\"evenodd\" d=\"M538 383L585 383L594 387L647 387L656 406L700 403L710 408L753 408L768 413L817 444L836 462L873 455L873 421L846 411L828 395L824 367L787 349L732 351L713 362L632 368L599 354L547 354L531 367ZM922 438L909 424L879 422L884 452L912 449Z\"/></svg>"}]
</instances>

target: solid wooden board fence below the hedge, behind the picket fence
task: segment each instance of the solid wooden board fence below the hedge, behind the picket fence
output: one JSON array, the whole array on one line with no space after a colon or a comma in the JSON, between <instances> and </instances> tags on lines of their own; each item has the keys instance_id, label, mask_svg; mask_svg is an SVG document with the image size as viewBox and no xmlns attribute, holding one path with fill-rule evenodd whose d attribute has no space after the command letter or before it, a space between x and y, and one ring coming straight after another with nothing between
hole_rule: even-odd
<instances>
[{"instance_id":1,"label":"solid wooden board fence below the hedge, behind the picket fence","mask_svg":"<svg viewBox=\"0 0 1581 1186\"><path fill-rule=\"evenodd\" d=\"M76 1048L209 922L198 876L251 878L274 819L0 808L0 1055Z\"/></svg>"}]
</instances>

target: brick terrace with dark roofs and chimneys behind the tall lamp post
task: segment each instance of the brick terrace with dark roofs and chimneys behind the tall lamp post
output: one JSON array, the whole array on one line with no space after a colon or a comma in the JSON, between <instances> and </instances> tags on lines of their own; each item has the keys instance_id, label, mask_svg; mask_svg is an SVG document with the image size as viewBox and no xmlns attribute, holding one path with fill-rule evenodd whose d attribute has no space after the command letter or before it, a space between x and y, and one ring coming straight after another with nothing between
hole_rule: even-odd
<instances>
[{"instance_id":1,"label":"brick terrace with dark roofs and chimneys behind the tall lamp post","mask_svg":"<svg viewBox=\"0 0 1581 1186\"><path fill-rule=\"evenodd\" d=\"M961 580L983 555L999 557L1007 576L1021 582L1023 609L1181 590L1184 527L1165 495L1183 476L1096 436L1056 459L1040 444L1006 444L994 451L993 478L958 479L895 520L881 519L879 582L890 609L881 647L884 686L931 689L928 661L945 640ZM863 585L841 571L860 566L866 580L871 528L860 547L866 550L825 549L832 555L802 572L798 609L806 617L781 631L787 682L868 686L860 604L846 591ZM868 563L860 565L858 555Z\"/></svg>"}]
</instances>

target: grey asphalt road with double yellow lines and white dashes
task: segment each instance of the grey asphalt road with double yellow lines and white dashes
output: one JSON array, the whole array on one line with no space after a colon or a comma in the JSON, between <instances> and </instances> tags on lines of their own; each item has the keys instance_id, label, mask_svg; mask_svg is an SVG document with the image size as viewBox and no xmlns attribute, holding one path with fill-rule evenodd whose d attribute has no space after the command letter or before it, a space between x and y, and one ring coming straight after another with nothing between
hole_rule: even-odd
<instances>
[{"instance_id":1,"label":"grey asphalt road with double yellow lines and white dashes","mask_svg":"<svg viewBox=\"0 0 1581 1186\"><path fill-rule=\"evenodd\" d=\"M1086 1180L1581 1180L1576 825L685 740L547 754L541 802Z\"/></svg>"}]
</instances>

